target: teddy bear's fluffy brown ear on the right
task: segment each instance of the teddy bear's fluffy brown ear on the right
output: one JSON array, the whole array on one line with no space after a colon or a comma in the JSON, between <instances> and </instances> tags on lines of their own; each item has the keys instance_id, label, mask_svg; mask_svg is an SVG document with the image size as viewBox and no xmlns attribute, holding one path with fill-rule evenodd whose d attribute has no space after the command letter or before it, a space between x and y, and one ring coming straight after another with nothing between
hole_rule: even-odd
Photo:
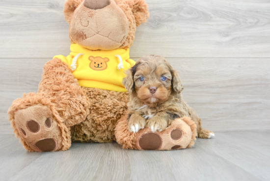
<instances>
[{"instance_id":1,"label":"teddy bear's fluffy brown ear on the right","mask_svg":"<svg viewBox=\"0 0 270 181\"><path fill-rule=\"evenodd\" d=\"M149 18L148 5L145 0L127 0L135 17L136 26L146 23Z\"/></svg>"}]
</instances>

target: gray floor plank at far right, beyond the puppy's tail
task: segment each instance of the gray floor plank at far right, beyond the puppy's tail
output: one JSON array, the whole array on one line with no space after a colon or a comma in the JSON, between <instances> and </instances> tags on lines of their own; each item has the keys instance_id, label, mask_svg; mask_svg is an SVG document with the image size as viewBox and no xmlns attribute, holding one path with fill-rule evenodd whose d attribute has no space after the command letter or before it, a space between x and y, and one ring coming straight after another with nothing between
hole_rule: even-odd
<instances>
[{"instance_id":1,"label":"gray floor plank at far right, beyond the puppy's tail","mask_svg":"<svg viewBox=\"0 0 270 181\"><path fill-rule=\"evenodd\" d=\"M267 135L258 131L219 133L218 139L213 142L201 139L201 144L205 149L214 151L260 180L269 181L270 174L266 174L270 173L270 145L266 143L269 138ZM251 141L249 138L253 136L257 139Z\"/></svg>"}]
</instances>

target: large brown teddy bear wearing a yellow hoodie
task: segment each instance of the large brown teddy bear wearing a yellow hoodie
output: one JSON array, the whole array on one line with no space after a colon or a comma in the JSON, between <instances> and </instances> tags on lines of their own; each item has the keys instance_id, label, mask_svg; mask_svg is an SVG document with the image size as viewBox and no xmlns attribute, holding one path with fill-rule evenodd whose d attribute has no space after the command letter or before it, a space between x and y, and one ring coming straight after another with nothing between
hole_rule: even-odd
<instances>
[{"instance_id":1,"label":"large brown teddy bear wearing a yellow hoodie","mask_svg":"<svg viewBox=\"0 0 270 181\"><path fill-rule=\"evenodd\" d=\"M135 64L129 48L136 27L149 17L146 2L66 0L63 13L70 25L71 53L48 61L38 91L13 101L8 115L15 136L27 151L66 151L72 142L117 141L117 127L119 143L127 134L129 140L123 143L131 146L123 147L137 149L133 145L143 131L131 135L125 127L129 93L122 80ZM169 129L186 126L186 147L194 144L192 121L182 119L173 125ZM155 150L157 146L149 147L148 142L138 150Z\"/></svg>"}]
</instances>

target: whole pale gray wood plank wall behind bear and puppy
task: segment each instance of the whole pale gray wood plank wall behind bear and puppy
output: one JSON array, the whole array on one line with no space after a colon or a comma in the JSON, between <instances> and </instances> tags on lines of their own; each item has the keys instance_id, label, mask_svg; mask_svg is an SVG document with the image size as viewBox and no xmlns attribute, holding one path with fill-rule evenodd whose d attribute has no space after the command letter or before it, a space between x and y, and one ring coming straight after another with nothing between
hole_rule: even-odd
<instances>
[{"instance_id":1,"label":"whole pale gray wood plank wall behind bear and puppy","mask_svg":"<svg viewBox=\"0 0 270 181\"><path fill-rule=\"evenodd\" d=\"M70 52L64 1L1 0L0 134L12 134L8 107L37 91L44 63ZM270 0L146 2L131 57L167 58L205 128L270 129Z\"/></svg>"}]
</instances>

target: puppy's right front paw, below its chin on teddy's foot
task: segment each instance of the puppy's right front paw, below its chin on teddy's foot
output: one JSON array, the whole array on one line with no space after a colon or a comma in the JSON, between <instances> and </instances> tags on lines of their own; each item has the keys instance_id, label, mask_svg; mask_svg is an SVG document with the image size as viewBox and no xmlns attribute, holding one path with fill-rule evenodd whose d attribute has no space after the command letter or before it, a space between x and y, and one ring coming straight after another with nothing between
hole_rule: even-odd
<instances>
[{"instance_id":1,"label":"puppy's right front paw, below its chin on teddy's foot","mask_svg":"<svg viewBox=\"0 0 270 181\"><path fill-rule=\"evenodd\" d=\"M148 127L151 128L152 132L161 132L168 126L169 118L169 115L165 111L159 112L148 121Z\"/></svg>"}]
</instances>

